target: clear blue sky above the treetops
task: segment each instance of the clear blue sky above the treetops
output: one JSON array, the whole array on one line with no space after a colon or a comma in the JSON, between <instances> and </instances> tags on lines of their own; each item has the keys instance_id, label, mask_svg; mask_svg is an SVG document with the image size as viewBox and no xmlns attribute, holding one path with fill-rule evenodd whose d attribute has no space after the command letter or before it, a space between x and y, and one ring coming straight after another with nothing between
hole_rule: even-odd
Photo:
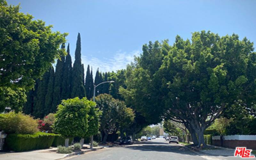
<instances>
[{"instance_id":1,"label":"clear blue sky above the treetops","mask_svg":"<svg viewBox=\"0 0 256 160\"><path fill-rule=\"evenodd\" d=\"M81 34L82 61L95 73L125 68L148 41L183 39L194 31L236 33L256 43L255 0L7 0L21 12L68 32L74 57ZM256 46L254 44L254 46ZM74 61L74 59L72 59Z\"/></svg>"}]
</instances>

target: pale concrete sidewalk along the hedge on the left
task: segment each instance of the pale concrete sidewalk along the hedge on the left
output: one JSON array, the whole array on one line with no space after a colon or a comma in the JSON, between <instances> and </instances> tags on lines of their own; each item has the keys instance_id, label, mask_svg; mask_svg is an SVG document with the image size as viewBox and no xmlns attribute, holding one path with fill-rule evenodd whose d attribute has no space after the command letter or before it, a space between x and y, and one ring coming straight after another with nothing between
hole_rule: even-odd
<instances>
[{"instance_id":1,"label":"pale concrete sidewalk along the hedge on the left","mask_svg":"<svg viewBox=\"0 0 256 160\"><path fill-rule=\"evenodd\" d=\"M68 156L83 154L85 152L90 152L90 151L104 148L103 146L99 146L99 147L94 147L90 149L88 145L84 145L83 147L88 147L88 148L81 149L81 151L73 152L70 154L56 153L57 148L53 148L53 147L49 149L39 149L39 150L32 150L32 151L26 151L26 152L0 152L0 159L1 160L13 160L13 159L56 160L56 159L62 159Z\"/></svg>"}]
</instances>

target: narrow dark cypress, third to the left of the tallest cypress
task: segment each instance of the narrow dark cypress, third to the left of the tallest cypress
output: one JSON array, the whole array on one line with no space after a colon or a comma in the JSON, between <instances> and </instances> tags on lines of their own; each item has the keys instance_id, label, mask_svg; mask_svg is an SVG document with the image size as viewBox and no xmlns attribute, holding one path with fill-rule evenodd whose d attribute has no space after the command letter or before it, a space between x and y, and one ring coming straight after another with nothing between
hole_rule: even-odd
<instances>
[{"instance_id":1,"label":"narrow dark cypress, third to the left of the tallest cypress","mask_svg":"<svg viewBox=\"0 0 256 160\"><path fill-rule=\"evenodd\" d=\"M49 69L50 77L47 85L47 93L45 95L44 109L45 115L55 112L55 107L52 108L53 92L54 92L54 69Z\"/></svg>"}]
</instances>

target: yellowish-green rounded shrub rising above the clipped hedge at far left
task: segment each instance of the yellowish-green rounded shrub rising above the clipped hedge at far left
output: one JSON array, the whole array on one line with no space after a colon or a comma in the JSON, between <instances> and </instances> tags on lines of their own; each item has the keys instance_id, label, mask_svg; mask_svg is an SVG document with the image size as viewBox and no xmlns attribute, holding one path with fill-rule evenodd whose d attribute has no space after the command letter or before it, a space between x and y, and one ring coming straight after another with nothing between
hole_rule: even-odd
<instances>
[{"instance_id":1,"label":"yellowish-green rounded shrub rising above the clipped hedge at far left","mask_svg":"<svg viewBox=\"0 0 256 160\"><path fill-rule=\"evenodd\" d=\"M14 112L0 114L0 130L7 134L34 134L38 132L37 125L37 121L29 115Z\"/></svg>"}]
</instances>

